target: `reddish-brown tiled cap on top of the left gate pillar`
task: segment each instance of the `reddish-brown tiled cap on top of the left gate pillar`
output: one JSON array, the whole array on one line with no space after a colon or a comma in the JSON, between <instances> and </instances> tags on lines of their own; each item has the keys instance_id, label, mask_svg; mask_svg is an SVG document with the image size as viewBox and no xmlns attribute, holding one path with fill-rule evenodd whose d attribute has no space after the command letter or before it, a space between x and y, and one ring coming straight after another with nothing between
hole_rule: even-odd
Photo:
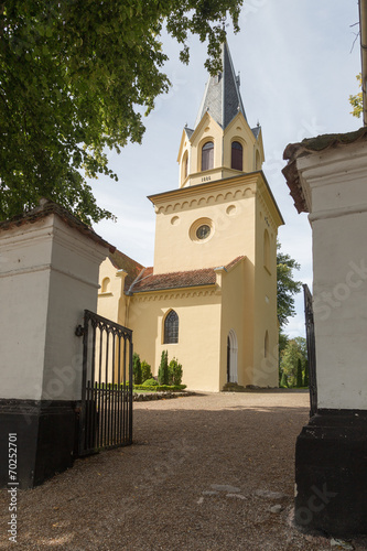
<instances>
[{"instance_id":1,"label":"reddish-brown tiled cap on top of the left gate pillar","mask_svg":"<svg viewBox=\"0 0 367 551\"><path fill-rule=\"evenodd\" d=\"M0 231L23 226L24 224L34 224L35 222L39 222L42 218L46 218L50 215L58 216L67 226L77 229L85 237L88 237L98 245L108 248L111 253L115 252L116 247L102 239L98 234L95 233L95 230L90 226L79 220L65 207L44 197L40 199L39 205L35 208L32 208L31 210L28 210L21 215L14 216L9 220L0 222Z\"/></svg>"}]
</instances>

